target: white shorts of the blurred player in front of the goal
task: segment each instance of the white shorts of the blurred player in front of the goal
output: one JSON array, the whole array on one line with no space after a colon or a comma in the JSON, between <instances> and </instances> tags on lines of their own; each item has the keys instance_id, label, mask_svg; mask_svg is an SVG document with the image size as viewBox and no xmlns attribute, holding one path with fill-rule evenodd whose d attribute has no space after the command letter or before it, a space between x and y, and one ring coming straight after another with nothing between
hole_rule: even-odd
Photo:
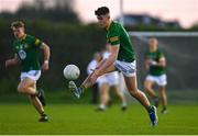
<instances>
[{"instance_id":1,"label":"white shorts of the blurred player in front of the goal","mask_svg":"<svg viewBox=\"0 0 198 136\"><path fill-rule=\"evenodd\" d=\"M166 75L162 75L162 76L151 76L151 75L148 75L145 80L153 81L157 86L161 86L161 87L167 84Z\"/></svg>"}]
</instances>

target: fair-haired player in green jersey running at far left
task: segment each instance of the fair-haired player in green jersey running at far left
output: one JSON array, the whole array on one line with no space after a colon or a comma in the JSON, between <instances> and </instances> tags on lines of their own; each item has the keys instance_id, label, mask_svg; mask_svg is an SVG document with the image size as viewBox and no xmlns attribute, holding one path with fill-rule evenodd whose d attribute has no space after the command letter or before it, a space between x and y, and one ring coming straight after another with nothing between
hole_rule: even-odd
<instances>
[{"instance_id":1,"label":"fair-haired player in green jersey running at far left","mask_svg":"<svg viewBox=\"0 0 198 136\"><path fill-rule=\"evenodd\" d=\"M15 41L13 42L14 57L6 61L6 67L20 64L22 66L21 82L18 86L20 93L30 97L36 111L40 113L40 122L47 122L44 112L44 92L36 90L36 81L41 77L40 49L44 53L43 70L48 70L50 47L38 38L25 34L24 23L21 21L11 24Z\"/></svg>"}]
</instances>

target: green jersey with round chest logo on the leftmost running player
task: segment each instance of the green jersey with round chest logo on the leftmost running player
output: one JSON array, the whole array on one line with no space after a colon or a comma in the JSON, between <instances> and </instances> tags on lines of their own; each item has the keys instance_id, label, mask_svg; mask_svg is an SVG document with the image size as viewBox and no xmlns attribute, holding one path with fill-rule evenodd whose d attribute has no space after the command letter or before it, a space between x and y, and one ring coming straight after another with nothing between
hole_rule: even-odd
<instances>
[{"instance_id":1,"label":"green jersey with round chest logo on the leftmost running player","mask_svg":"<svg viewBox=\"0 0 198 136\"><path fill-rule=\"evenodd\" d=\"M22 71L40 70L40 46L42 42L31 35L13 42L14 53L21 59Z\"/></svg>"}]
</instances>

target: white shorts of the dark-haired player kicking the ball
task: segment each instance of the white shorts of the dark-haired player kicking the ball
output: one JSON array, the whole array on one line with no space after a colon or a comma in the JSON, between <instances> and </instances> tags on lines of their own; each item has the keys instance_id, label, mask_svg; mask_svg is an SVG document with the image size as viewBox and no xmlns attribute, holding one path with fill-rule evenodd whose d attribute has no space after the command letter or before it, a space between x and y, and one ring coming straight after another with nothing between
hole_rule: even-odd
<instances>
[{"instance_id":1,"label":"white shorts of the dark-haired player kicking the ball","mask_svg":"<svg viewBox=\"0 0 198 136\"><path fill-rule=\"evenodd\" d=\"M136 61L135 60L133 63L116 60L114 66L125 77L135 77L136 76Z\"/></svg>"}]
</instances>

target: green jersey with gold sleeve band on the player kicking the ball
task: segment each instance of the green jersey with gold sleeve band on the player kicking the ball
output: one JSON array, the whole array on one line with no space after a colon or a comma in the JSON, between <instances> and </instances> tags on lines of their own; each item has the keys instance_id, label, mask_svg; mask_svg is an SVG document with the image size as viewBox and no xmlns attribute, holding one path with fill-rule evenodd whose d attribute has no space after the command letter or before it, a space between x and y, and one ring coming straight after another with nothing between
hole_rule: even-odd
<instances>
[{"instance_id":1,"label":"green jersey with gold sleeve band on the player kicking the ball","mask_svg":"<svg viewBox=\"0 0 198 136\"><path fill-rule=\"evenodd\" d=\"M120 23L110 23L107 31L107 41L111 46L120 44L118 60L128 63L135 60L135 54L130 41L130 36Z\"/></svg>"}]
</instances>

